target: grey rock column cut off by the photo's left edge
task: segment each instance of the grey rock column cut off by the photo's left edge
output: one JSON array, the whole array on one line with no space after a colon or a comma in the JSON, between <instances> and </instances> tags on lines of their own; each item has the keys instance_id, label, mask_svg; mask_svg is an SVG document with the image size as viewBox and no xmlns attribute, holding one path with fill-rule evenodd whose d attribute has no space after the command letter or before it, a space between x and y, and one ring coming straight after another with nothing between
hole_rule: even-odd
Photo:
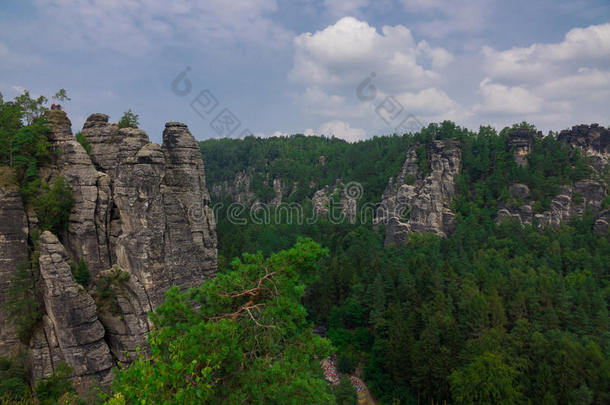
<instances>
[{"instance_id":1,"label":"grey rock column cut off by the photo's left edge","mask_svg":"<svg viewBox=\"0 0 610 405\"><path fill-rule=\"evenodd\" d=\"M27 260L27 242L28 222L14 173L0 167L0 357L14 353L20 346L17 328L2 308L9 299L10 281L17 265Z\"/></svg>"}]
</instances>

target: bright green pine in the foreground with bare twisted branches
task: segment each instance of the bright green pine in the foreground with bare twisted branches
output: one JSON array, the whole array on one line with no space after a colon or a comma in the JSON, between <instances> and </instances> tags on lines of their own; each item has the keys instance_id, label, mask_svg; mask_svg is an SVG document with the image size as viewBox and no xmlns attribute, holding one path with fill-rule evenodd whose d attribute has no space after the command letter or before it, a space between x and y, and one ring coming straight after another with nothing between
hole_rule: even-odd
<instances>
[{"instance_id":1,"label":"bright green pine in the foreground with bare twisted branches","mask_svg":"<svg viewBox=\"0 0 610 405\"><path fill-rule=\"evenodd\" d=\"M115 392L128 403L333 403L320 367L330 347L300 303L325 254L300 240L268 259L244 254L191 292L170 289L150 358L123 368Z\"/></svg>"}]
</instances>

